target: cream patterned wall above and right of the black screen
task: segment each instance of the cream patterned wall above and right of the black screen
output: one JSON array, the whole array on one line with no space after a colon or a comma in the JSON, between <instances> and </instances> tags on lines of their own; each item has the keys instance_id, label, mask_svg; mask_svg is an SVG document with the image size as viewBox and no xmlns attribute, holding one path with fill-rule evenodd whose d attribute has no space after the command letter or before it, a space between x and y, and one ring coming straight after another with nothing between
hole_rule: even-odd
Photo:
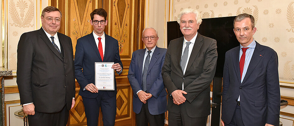
<instances>
[{"instance_id":1,"label":"cream patterned wall above and right of the black screen","mask_svg":"<svg viewBox=\"0 0 294 126\"><path fill-rule=\"evenodd\" d=\"M184 8L198 10L202 18L252 14L257 28L254 39L278 53L280 80L294 82L293 3L292 0L173 0L170 16L176 20Z\"/></svg>"}]
</instances>

